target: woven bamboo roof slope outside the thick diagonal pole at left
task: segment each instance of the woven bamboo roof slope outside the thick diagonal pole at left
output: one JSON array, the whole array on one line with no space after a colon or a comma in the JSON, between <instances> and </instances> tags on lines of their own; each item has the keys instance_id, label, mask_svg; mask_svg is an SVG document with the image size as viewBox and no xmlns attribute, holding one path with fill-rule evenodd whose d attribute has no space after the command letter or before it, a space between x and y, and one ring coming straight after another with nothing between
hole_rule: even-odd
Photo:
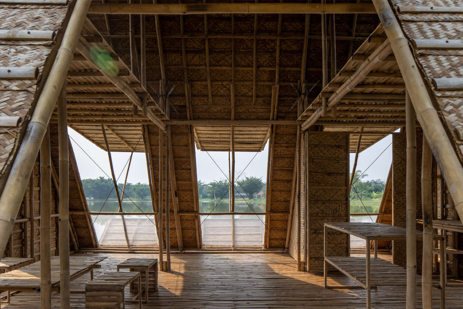
<instances>
[{"instance_id":1,"label":"woven bamboo roof slope outside the thick diagonal pole at left","mask_svg":"<svg viewBox=\"0 0 463 309\"><path fill-rule=\"evenodd\" d=\"M35 30L58 32L68 12L66 5L13 5L1 4L2 30ZM56 39L0 40L0 67L37 67L35 79L0 80L0 116L19 116L17 127L0 129L0 175L7 177L14 156L23 139L25 128L33 112L35 101L53 62ZM3 183L3 182L2 182Z\"/></svg>"}]
</instances>

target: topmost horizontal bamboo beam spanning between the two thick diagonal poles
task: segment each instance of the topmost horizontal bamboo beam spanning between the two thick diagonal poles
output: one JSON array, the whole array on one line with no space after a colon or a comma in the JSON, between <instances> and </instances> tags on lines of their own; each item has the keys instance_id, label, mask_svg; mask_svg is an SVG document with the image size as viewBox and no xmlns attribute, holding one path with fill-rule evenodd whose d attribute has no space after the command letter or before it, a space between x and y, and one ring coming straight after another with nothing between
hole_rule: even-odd
<instances>
[{"instance_id":1,"label":"topmost horizontal bamboo beam spanning between the two thick diagonal poles","mask_svg":"<svg viewBox=\"0 0 463 309\"><path fill-rule=\"evenodd\" d=\"M370 3L92 4L90 14L375 14Z\"/></svg>"}]
</instances>

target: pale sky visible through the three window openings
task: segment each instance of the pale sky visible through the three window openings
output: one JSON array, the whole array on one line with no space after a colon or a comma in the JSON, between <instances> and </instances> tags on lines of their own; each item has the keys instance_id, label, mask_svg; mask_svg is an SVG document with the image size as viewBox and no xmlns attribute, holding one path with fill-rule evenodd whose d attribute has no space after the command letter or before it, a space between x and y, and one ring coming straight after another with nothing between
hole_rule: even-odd
<instances>
[{"instance_id":1,"label":"pale sky visible through the three window openings","mask_svg":"<svg viewBox=\"0 0 463 309\"><path fill-rule=\"evenodd\" d=\"M71 143L74 148L75 158L79 167L79 172L82 179L86 178L97 178L100 176L111 177L111 170L109 168L108 156L106 151L103 151L79 133L69 128L69 136L71 137ZM74 139L74 140L73 140ZM375 145L362 151L358 158L357 170L365 170L368 166L378 157L378 155L385 150L391 143L392 137L388 135L385 139L382 139ZM76 145L76 143L78 145ZM102 170L92 162L82 149L90 155L90 157L98 164ZM124 181L125 169L128 158L130 157L129 152L112 152L114 173L116 177L119 177L119 183ZM236 152L235 154L235 170L238 173L243 172L242 176L256 176L262 177L265 181L267 174L267 156L268 156L268 145L265 145L263 151L258 152ZM196 165L198 172L198 180L205 183L209 183L213 180L225 179L224 174L228 177L228 152L206 152L196 150ZM255 157L255 158L254 158ZM251 161L252 160L252 161ZM376 160L374 164L369 167L366 171L367 179L386 179L388 177L389 167L392 160L392 145L390 145L386 151ZM350 170L354 162L354 154L350 154ZM249 166L244 170L246 165ZM125 168L124 168L125 167ZM105 175L107 174L107 176ZM133 154L131 167L127 182L129 183L148 183L148 175L146 170L146 159L144 153L135 152Z\"/></svg>"}]
</instances>

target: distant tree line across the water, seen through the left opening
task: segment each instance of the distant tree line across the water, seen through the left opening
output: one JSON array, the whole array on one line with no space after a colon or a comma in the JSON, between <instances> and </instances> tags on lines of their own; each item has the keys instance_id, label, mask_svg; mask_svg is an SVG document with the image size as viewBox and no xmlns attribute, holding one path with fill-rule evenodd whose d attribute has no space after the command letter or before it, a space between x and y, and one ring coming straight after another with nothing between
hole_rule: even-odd
<instances>
[{"instance_id":1,"label":"distant tree line across the water, seen through the left opening","mask_svg":"<svg viewBox=\"0 0 463 309\"><path fill-rule=\"evenodd\" d=\"M98 177L96 179L82 179L82 185L84 187L85 195L88 197L93 196L96 200L106 200L109 198L117 199L116 190L114 189L114 183L112 179L105 177ZM126 183L125 194L122 194L122 188L124 183L118 183L120 196L127 196L131 199L144 199L150 198L150 187L146 183ZM111 191L112 190L112 191Z\"/></svg>"}]
</instances>

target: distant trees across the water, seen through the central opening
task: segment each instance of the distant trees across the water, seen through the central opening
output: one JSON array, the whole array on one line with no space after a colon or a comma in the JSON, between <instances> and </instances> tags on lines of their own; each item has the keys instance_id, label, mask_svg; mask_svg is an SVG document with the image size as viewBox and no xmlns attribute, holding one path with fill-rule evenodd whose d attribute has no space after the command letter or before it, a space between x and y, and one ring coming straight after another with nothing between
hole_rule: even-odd
<instances>
[{"instance_id":1,"label":"distant trees across the water, seen through the central opening","mask_svg":"<svg viewBox=\"0 0 463 309\"><path fill-rule=\"evenodd\" d=\"M235 194L239 192L242 195L246 194L244 195L245 197L253 199L254 195L258 194L260 191L263 191L262 197L265 197L266 183L262 181L262 177L244 177L236 182L235 188ZM230 197L228 180L214 180L210 183L198 181L198 193L200 199L228 199Z\"/></svg>"}]
</instances>

